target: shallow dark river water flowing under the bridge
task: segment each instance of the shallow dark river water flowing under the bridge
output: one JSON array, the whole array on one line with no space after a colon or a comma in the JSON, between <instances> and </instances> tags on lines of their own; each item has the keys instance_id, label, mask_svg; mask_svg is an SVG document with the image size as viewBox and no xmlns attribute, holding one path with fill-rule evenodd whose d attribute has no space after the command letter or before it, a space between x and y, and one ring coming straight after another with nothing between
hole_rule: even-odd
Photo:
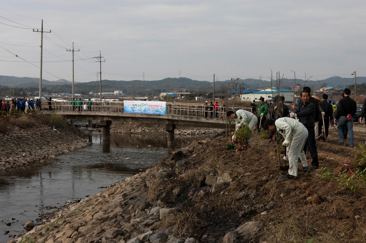
<instances>
[{"instance_id":1,"label":"shallow dark river water flowing under the bridge","mask_svg":"<svg viewBox=\"0 0 366 243\"><path fill-rule=\"evenodd\" d=\"M101 142L100 132L93 132L87 139L93 143L56 156L54 163L0 174L1 243L25 233L23 224L27 220L39 224L36 219L42 213L55 210L67 200L98 193L102 186L144 171L171 153L165 135L111 134L108 144Z\"/></svg>"}]
</instances>

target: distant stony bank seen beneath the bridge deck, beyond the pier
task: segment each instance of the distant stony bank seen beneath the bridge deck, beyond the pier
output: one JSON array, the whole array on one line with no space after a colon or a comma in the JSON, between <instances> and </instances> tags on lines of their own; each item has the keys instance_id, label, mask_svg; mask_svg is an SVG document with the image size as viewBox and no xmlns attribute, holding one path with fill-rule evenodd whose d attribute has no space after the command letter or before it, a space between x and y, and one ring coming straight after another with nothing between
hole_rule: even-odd
<instances>
[{"instance_id":1,"label":"distant stony bank seen beneath the bridge deck, beyond the pier","mask_svg":"<svg viewBox=\"0 0 366 243\"><path fill-rule=\"evenodd\" d=\"M205 127L188 127L177 126L174 133L175 135L188 136L188 135L205 135L205 134L217 134L222 132L222 129L205 128ZM136 122L123 122L113 121L111 125L111 132L165 132L164 124L148 124L148 123L136 123Z\"/></svg>"}]
</instances>

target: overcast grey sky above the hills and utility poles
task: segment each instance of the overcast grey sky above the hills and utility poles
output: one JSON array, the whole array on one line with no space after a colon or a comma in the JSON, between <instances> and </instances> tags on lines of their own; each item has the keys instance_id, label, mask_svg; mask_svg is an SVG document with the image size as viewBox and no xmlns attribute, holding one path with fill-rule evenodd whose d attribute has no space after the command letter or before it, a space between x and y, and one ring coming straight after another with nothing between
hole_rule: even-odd
<instances>
[{"instance_id":1,"label":"overcast grey sky above the hills and utility poles","mask_svg":"<svg viewBox=\"0 0 366 243\"><path fill-rule=\"evenodd\" d=\"M40 34L16 23L41 28L43 19L52 30L44 33L47 80L72 80L72 63L64 61L72 41L82 51L75 60L84 59L75 61L78 82L97 79L99 63L89 58L99 50L102 79L109 80L142 80L143 72L145 80L160 80L179 70L208 81L214 73L219 81L268 80L270 69L312 80L353 77L355 70L366 76L365 0L12 0L0 7L0 46L38 67ZM0 75L39 77L29 63L8 62L19 57L0 48Z\"/></svg>"}]
</instances>

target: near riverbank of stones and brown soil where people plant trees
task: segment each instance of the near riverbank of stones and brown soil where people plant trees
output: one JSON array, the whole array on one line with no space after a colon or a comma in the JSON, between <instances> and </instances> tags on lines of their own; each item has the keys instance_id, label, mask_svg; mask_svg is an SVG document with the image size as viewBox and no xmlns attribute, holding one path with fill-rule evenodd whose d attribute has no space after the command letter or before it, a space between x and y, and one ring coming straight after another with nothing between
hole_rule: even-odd
<instances>
[{"instance_id":1,"label":"near riverbank of stones and brown soil where people plant trees","mask_svg":"<svg viewBox=\"0 0 366 243\"><path fill-rule=\"evenodd\" d=\"M334 130L328 139L318 142L326 169L303 174L299 166L298 179L287 181L279 179L275 144L260 136L242 152L226 150L223 136L191 142L146 172L55 212L22 239L364 242L365 183L348 168L357 173L366 150L338 145ZM364 143L364 133L355 132L355 141Z\"/></svg>"}]
</instances>

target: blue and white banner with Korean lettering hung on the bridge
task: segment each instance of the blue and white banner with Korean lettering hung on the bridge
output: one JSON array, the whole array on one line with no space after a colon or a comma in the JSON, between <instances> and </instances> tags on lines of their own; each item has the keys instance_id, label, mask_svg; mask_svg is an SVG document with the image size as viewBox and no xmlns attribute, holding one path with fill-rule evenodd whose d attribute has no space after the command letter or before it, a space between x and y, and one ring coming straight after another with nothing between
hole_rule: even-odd
<instances>
[{"instance_id":1,"label":"blue and white banner with Korean lettering hung on the bridge","mask_svg":"<svg viewBox=\"0 0 366 243\"><path fill-rule=\"evenodd\" d=\"M165 101L124 100L123 103L123 110L126 113L167 114Z\"/></svg>"}]
</instances>

